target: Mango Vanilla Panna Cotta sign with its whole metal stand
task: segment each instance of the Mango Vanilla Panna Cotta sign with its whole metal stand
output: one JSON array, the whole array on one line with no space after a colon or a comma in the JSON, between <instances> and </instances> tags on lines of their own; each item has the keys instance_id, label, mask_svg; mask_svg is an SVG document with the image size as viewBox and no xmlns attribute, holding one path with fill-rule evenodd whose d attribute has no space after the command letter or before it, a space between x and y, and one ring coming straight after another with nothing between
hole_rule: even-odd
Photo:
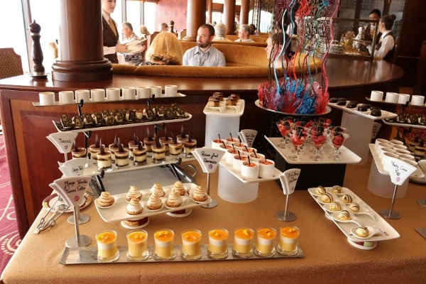
<instances>
[{"instance_id":1,"label":"Mango Vanilla Panna Cotta sign with its whole metal stand","mask_svg":"<svg viewBox=\"0 0 426 284\"><path fill-rule=\"evenodd\" d=\"M73 206L74 219L78 220L80 215L80 203L84 197L84 193L89 186L92 177L75 176L60 178L50 184L50 187L55 188L59 195L67 204ZM79 222L75 222L75 236L70 237L65 241L65 246L69 248L88 246L91 242L89 236L80 235Z\"/></svg>"}]
</instances>

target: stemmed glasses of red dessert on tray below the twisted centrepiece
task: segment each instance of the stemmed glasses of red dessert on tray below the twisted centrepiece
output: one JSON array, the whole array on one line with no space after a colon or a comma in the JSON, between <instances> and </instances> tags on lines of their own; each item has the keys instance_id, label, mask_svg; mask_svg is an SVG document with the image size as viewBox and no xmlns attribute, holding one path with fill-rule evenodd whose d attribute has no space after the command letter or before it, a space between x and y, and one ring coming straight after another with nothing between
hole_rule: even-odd
<instances>
[{"instance_id":1,"label":"stemmed glasses of red dessert on tray below the twisted centrepiece","mask_svg":"<svg viewBox=\"0 0 426 284\"><path fill-rule=\"evenodd\" d=\"M343 146L347 138L349 138L347 129L344 127L329 126L329 123L324 123L323 121L314 121L312 124L305 124L305 126L302 126L293 122L292 119L283 119L277 121L276 124L281 136L283 136L283 140L278 146L280 148L288 148L286 140L290 138L295 148L294 151L292 151L294 155L291 155L290 159L295 161L301 160L300 153L302 153L302 149L305 148L308 140L310 140L315 147L315 151L313 155L310 156L310 160L322 160L320 155L322 146L327 142L328 137L334 146L334 153L329 158L332 160L340 160L339 149Z\"/></svg>"}]
</instances>

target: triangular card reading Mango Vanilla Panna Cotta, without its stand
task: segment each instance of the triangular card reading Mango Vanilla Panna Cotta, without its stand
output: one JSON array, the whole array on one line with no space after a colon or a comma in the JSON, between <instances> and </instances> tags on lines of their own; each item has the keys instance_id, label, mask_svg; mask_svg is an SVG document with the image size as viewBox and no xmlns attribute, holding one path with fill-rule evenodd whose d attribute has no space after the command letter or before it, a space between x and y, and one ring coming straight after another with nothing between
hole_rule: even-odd
<instances>
[{"instance_id":1,"label":"triangular card reading Mango Vanilla Panna Cotta, without its stand","mask_svg":"<svg viewBox=\"0 0 426 284\"><path fill-rule=\"evenodd\" d=\"M86 192L92 177L79 175L77 177L60 178L50 184L54 187L68 205L79 206L82 202L84 192Z\"/></svg>"}]
</instances>

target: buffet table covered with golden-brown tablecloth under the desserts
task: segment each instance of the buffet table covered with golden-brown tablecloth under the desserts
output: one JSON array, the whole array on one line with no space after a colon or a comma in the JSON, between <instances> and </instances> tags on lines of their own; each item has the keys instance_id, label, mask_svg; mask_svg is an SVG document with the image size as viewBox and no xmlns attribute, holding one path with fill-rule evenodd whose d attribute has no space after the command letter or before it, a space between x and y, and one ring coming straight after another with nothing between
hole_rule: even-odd
<instances>
[{"instance_id":1,"label":"buffet table covered with golden-brown tablecloth under the desserts","mask_svg":"<svg viewBox=\"0 0 426 284\"><path fill-rule=\"evenodd\" d=\"M371 158L368 160L372 162ZM348 165L345 187L378 212L388 208L390 200L378 197L366 189L368 165ZM148 231L148 246L153 246L153 232L168 228L176 234L184 229L199 229L202 244L207 244L207 232L213 227L233 231L239 226L257 229L259 226L291 224L300 229L299 245L305 257L249 259L239 261L182 261L174 263L94 263L62 265L59 263L65 241L75 234L67 223L67 215L40 234L32 234L45 213L42 211L1 275L1 283L283 283L284 278L299 283L424 283L426 278L425 239L415 231L426 226L426 208L416 203L426 197L426 189L410 183L407 195L398 200L395 209L399 220L386 220L400 234L397 239L378 241L371 251L356 249L347 242L342 231L325 217L324 211L307 190L297 190L289 202L289 209L297 215L295 222L280 222L275 212L284 209L285 195L275 181L259 183L258 198L249 203L231 203L217 196L217 176L211 175L210 195L219 202L214 209L193 208L183 218L166 214L150 217L144 229ZM202 170L195 176L198 185L205 187L207 177ZM393 190L390 188L389 190ZM91 219L80 225L80 234L90 236L96 247L95 234L105 229L118 232L119 246L126 246L126 232L117 223L102 221L94 202L82 209ZM230 234L231 235L231 234ZM233 239L230 237L229 243ZM175 244L181 244L180 240ZM392 272L392 273L390 273Z\"/></svg>"}]
</instances>

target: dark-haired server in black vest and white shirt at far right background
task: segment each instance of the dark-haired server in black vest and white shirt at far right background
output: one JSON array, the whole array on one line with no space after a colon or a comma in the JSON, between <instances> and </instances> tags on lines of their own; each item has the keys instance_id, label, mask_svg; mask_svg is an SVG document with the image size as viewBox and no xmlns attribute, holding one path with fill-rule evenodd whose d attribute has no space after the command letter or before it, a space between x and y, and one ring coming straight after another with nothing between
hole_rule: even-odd
<instances>
[{"instance_id":1,"label":"dark-haired server in black vest and white shirt at far right background","mask_svg":"<svg viewBox=\"0 0 426 284\"><path fill-rule=\"evenodd\" d=\"M380 41L376 45L374 50L374 57L380 58L389 62L393 61L395 55L395 38L392 33L393 22L395 21L395 15L385 15L378 23L378 30L382 33ZM367 46L370 54L372 53L371 45Z\"/></svg>"}]
</instances>

